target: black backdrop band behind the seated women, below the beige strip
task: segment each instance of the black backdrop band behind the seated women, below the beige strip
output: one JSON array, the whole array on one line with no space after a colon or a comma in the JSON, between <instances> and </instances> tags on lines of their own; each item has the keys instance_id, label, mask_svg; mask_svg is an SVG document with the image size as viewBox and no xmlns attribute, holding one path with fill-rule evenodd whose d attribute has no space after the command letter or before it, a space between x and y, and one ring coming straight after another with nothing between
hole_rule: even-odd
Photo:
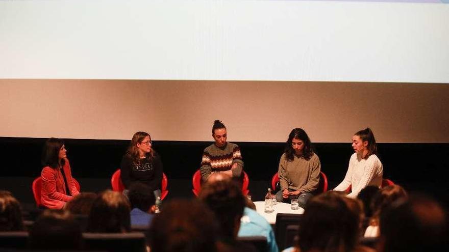
<instances>
[{"instance_id":1,"label":"black backdrop band behind the seated women, below the beige strip","mask_svg":"<svg viewBox=\"0 0 449 252\"><path fill-rule=\"evenodd\" d=\"M2 170L0 177L37 177L45 138L0 137ZM65 139L67 156L75 178L108 179L118 169L129 141L97 139ZM161 155L164 173L169 181L191 180L199 169L202 152L211 142L154 141L153 148ZM268 181L278 170L284 143L237 142L241 147L244 170L250 181ZM315 143L321 160L321 171L332 189L344 177L353 153L350 143ZM409 191L423 191L445 204L449 193L449 144L379 144L384 177L403 185ZM186 190L191 185L187 183ZM251 185L251 182L250 182ZM31 186L31 185L30 185ZM170 187L176 186L169 183ZM184 185L185 186L185 185ZM4 188L14 192L14 188ZM97 188L102 190L106 188ZM171 195L176 197L176 195Z\"/></svg>"}]
</instances>

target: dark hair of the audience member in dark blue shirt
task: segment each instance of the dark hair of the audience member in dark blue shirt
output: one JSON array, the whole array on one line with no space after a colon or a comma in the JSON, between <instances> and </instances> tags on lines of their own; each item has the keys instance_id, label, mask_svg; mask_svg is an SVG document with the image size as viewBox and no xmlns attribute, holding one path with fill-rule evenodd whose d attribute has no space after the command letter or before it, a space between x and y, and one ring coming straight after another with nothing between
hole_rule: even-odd
<instances>
[{"instance_id":1,"label":"dark hair of the audience member in dark blue shirt","mask_svg":"<svg viewBox=\"0 0 449 252\"><path fill-rule=\"evenodd\" d=\"M131 203L131 209L138 208L148 212L149 208L156 202L155 194L151 187L142 182L133 182L130 185L128 199Z\"/></svg>"}]
</instances>

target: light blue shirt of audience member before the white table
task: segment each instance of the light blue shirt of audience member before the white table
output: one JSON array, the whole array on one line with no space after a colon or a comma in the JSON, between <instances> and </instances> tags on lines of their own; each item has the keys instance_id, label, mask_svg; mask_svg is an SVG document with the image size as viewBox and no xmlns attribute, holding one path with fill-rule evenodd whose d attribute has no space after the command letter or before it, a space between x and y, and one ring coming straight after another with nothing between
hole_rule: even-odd
<instances>
[{"instance_id":1,"label":"light blue shirt of audience member before the white table","mask_svg":"<svg viewBox=\"0 0 449 252\"><path fill-rule=\"evenodd\" d=\"M275 233L273 232L270 223L251 208L245 207L245 210L243 211L238 236L265 236L267 238L268 251L279 251L278 244L276 244Z\"/></svg>"}]
</instances>

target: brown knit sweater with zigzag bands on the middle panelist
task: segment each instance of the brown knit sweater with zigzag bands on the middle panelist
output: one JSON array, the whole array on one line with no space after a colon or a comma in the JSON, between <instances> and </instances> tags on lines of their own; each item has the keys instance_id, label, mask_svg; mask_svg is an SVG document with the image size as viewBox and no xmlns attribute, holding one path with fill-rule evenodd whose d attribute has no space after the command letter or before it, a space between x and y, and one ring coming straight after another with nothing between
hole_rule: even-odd
<instances>
[{"instance_id":1,"label":"brown knit sweater with zigzag bands on the middle panelist","mask_svg":"<svg viewBox=\"0 0 449 252\"><path fill-rule=\"evenodd\" d=\"M237 167L231 169L235 163ZM229 170L232 170L232 177L240 177L243 170L242 155L238 145L227 143L226 146L219 148L214 143L204 149L199 169L203 181L207 180L212 172Z\"/></svg>"}]
</instances>

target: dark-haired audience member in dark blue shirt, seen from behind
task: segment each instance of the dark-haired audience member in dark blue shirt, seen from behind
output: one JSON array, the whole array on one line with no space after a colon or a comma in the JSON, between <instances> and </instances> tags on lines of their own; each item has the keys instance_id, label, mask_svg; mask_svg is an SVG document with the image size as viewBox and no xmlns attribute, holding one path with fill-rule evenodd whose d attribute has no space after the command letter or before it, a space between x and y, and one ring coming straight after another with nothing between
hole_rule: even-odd
<instances>
[{"instance_id":1,"label":"dark-haired audience member in dark blue shirt, seen from behind","mask_svg":"<svg viewBox=\"0 0 449 252\"><path fill-rule=\"evenodd\" d=\"M131 227L148 227L156 210L156 198L151 188L141 182L133 182L128 199L131 203Z\"/></svg>"}]
</instances>

